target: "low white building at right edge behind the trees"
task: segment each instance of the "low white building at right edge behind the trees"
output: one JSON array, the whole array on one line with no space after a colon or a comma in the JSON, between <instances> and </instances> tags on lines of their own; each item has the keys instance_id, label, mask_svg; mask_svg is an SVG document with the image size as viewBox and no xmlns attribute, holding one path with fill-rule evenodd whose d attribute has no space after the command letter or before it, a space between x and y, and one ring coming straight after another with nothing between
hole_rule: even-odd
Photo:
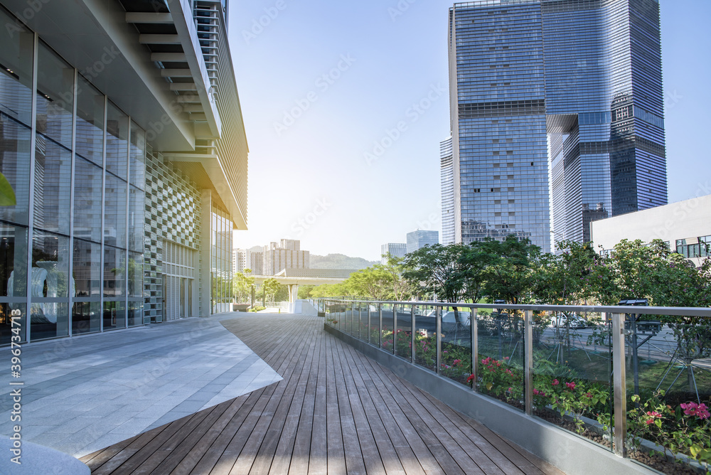
<instances>
[{"instance_id":1,"label":"low white building at right edge behind the trees","mask_svg":"<svg viewBox=\"0 0 711 475\"><path fill-rule=\"evenodd\" d=\"M710 254L705 244L711 246L711 195L593 221L590 235L596 250L602 251L623 239L661 239L698 266Z\"/></svg>"}]
</instances>

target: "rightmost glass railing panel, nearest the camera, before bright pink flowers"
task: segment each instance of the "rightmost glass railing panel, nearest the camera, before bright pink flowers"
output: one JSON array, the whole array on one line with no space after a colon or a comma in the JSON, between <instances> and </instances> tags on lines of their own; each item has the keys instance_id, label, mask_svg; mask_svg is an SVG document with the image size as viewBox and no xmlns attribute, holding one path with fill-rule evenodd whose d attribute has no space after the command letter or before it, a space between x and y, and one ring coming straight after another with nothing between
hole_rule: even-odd
<instances>
[{"instance_id":1,"label":"rightmost glass railing panel, nearest the camera, before bright pink flowers","mask_svg":"<svg viewBox=\"0 0 711 475\"><path fill-rule=\"evenodd\" d=\"M656 444L680 461L711 461L709 319L628 314L625 330L630 457L672 473L648 453Z\"/></svg>"}]
</instances>

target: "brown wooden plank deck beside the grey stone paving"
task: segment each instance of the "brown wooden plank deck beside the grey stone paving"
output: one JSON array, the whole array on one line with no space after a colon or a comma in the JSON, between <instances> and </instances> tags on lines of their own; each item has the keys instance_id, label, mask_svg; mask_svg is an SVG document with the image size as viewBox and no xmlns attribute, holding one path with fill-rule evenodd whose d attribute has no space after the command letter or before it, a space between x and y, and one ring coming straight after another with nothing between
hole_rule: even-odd
<instances>
[{"instance_id":1,"label":"brown wooden plank deck beside the grey stone paving","mask_svg":"<svg viewBox=\"0 0 711 475\"><path fill-rule=\"evenodd\" d=\"M561 474L326 333L223 321L284 380L82 458L92 474Z\"/></svg>"}]
</instances>

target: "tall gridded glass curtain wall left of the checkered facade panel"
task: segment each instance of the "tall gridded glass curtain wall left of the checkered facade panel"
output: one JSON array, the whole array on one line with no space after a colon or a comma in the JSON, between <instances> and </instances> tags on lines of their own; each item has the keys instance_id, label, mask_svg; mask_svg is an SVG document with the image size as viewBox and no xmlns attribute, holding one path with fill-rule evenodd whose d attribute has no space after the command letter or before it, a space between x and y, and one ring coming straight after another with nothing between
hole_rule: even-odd
<instances>
[{"instance_id":1,"label":"tall gridded glass curtain wall left of the checkered facade panel","mask_svg":"<svg viewBox=\"0 0 711 475\"><path fill-rule=\"evenodd\" d=\"M145 152L145 132L33 32L4 38L0 172L17 204L0 207L0 345L11 314L22 341L143 324Z\"/></svg>"}]
</instances>

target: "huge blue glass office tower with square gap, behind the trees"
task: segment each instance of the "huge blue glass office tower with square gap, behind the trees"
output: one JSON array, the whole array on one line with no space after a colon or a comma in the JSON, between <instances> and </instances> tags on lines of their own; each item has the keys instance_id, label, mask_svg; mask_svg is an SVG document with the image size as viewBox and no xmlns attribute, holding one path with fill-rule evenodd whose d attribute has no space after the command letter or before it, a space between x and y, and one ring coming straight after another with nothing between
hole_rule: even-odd
<instances>
[{"instance_id":1,"label":"huge blue glass office tower with square gap, behind the trees","mask_svg":"<svg viewBox=\"0 0 711 475\"><path fill-rule=\"evenodd\" d=\"M457 242L667 202L656 0L454 4L449 78Z\"/></svg>"}]
</instances>

